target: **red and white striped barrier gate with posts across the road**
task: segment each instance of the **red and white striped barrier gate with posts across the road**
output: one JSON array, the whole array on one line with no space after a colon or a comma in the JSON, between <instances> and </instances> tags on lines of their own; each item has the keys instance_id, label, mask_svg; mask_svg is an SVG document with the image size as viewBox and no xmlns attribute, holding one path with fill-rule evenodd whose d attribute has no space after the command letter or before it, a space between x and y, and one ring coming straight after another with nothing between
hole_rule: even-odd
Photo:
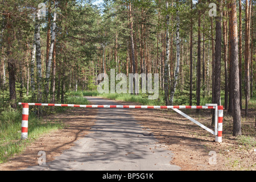
<instances>
[{"instance_id":1,"label":"red and white striped barrier gate with posts across the road","mask_svg":"<svg viewBox=\"0 0 256 182\"><path fill-rule=\"evenodd\" d=\"M203 129L209 131L216 136L216 142L222 142L222 119L223 119L223 106L217 106L217 104L208 104L206 106L147 106L147 105L76 105L76 104L39 104L39 103L22 103L22 139L27 138L28 133L28 110L29 106L59 106L59 107L86 107L86 108L128 108L128 109L173 109L177 113L183 115L185 118L196 123ZM187 114L181 112L178 109L215 109L215 125L214 131L208 127L202 125L200 122L189 117Z\"/></svg>"}]
</instances>

